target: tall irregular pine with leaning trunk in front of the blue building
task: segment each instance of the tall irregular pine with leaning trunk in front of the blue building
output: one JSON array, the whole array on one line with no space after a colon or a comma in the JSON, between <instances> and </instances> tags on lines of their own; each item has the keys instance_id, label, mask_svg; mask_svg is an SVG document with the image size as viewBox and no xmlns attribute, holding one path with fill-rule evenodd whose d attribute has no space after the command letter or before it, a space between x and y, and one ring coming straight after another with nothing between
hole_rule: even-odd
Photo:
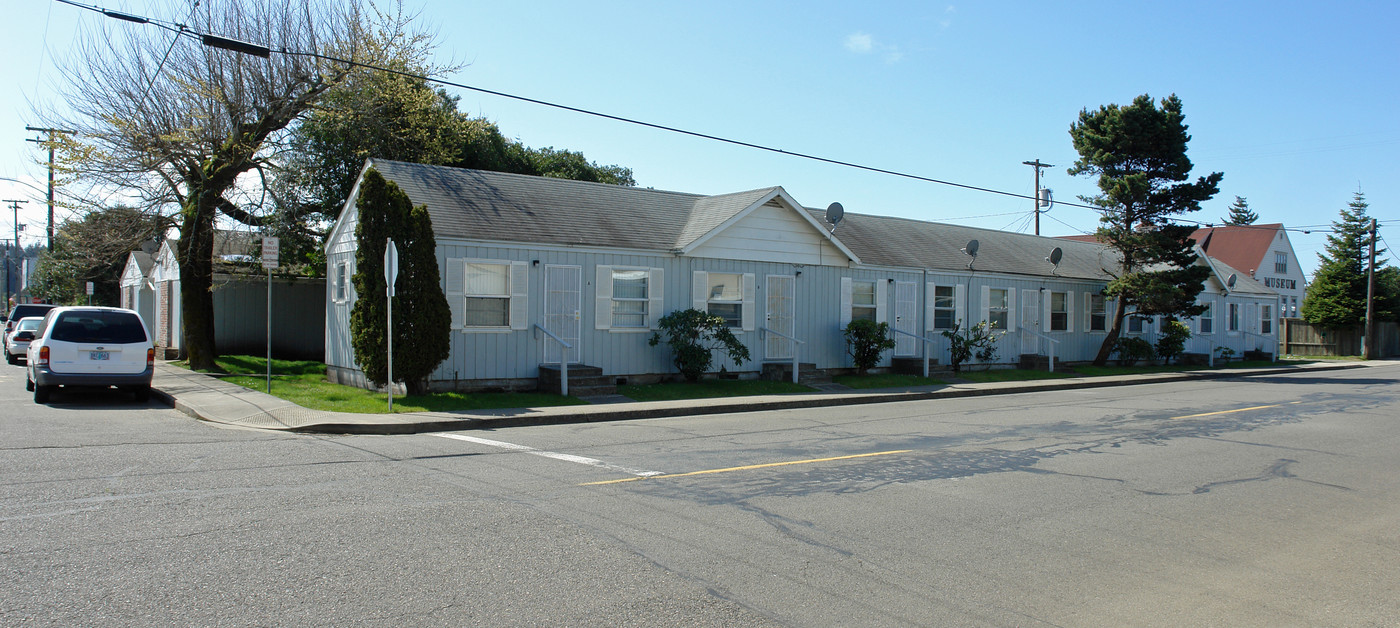
<instances>
[{"instance_id":1,"label":"tall irregular pine with leaning trunk in front of the blue building","mask_svg":"<svg viewBox=\"0 0 1400 628\"><path fill-rule=\"evenodd\" d=\"M1096 175L1099 190L1084 197L1103 208L1098 238L1117 250L1119 269L1109 281L1114 298L1109 333L1093 364L1103 365L1123 331L1130 306L1138 313L1196 316L1204 311L1196 297L1210 270L1196 264L1191 228L1172 225L1177 214L1200 210L1219 192L1225 176L1214 172L1187 182L1191 159L1186 157L1182 101L1170 95L1161 108L1149 95L1128 106L1084 109L1070 126L1079 152L1071 175Z\"/></svg>"}]
</instances>

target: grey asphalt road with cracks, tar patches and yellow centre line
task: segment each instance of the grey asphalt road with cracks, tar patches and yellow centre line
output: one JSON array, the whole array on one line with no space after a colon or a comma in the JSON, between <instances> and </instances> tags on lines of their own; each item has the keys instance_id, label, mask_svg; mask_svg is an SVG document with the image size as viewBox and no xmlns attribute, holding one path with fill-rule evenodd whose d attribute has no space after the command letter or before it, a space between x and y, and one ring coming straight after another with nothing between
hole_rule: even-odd
<instances>
[{"instance_id":1,"label":"grey asphalt road with cracks, tar patches and yellow centre line","mask_svg":"<svg viewBox=\"0 0 1400 628\"><path fill-rule=\"evenodd\" d=\"M1393 625L1400 365L405 436L0 369L4 625Z\"/></svg>"}]
</instances>

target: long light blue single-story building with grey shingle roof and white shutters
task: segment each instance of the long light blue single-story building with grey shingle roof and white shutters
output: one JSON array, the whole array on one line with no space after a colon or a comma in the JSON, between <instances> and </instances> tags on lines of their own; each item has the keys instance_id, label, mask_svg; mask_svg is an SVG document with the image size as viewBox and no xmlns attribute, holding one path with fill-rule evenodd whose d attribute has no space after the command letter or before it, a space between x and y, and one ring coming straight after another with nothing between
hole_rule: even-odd
<instances>
[{"instance_id":1,"label":"long light blue single-story building with grey shingle roof and white shutters","mask_svg":"<svg viewBox=\"0 0 1400 628\"><path fill-rule=\"evenodd\" d=\"M451 355L433 389L533 389L542 365L563 359L612 382L669 376L669 348L647 341L661 316L686 308L729 322L753 361L724 368L743 375L794 361L850 368L841 330L860 317L896 330L885 365L946 364L941 331L981 320L1007 331L995 364L1085 361L1112 313L1102 291L1116 257L1095 242L850 213L833 225L783 187L704 196L386 159L368 168L433 220L452 308ZM325 357L332 380L364 385L350 345L357 192L326 239ZM1187 350L1271 352L1277 294L1201 263L1212 267L1201 294L1212 308L1190 322ZM1154 338L1155 322L1134 319L1127 333Z\"/></svg>"}]
</instances>

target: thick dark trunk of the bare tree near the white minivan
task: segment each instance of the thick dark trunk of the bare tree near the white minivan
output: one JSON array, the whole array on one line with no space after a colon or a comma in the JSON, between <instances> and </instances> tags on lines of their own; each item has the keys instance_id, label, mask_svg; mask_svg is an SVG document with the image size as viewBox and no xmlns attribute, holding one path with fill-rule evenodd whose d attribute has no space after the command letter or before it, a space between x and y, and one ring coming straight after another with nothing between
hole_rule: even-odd
<instances>
[{"instance_id":1,"label":"thick dark trunk of the bare tree near the white minivan","mask_svg":"<svg viewBox=\"0 0 1400 628\"><path fill-rule=\"evenodd\" d=\"M181 317L189 368L214 371L214 208L218 194L192 194L181 224Z\"/></svg>"}]
</instances>

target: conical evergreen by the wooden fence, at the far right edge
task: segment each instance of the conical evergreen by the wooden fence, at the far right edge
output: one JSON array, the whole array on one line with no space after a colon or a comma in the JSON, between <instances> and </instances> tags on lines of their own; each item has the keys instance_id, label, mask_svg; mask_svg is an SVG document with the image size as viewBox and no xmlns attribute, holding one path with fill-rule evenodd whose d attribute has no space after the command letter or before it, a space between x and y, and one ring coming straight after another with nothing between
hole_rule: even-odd
<instances>
[{"instance_id":1,"label":"conical evergreen by the wooden fence, at the far right edge","mask_svg":"<svg viewBox=\"0 0 1400 628\"><path fill-rule=\"evenodd\" d=\"M1351 203L1331 224L1322 264L1308 284L1303 299L1303 320L1324 327L1351 327L1366 322L1366 264L1371 257L1371 217L1366 215L1366 196L1357 192ZM1376 248L1376 308L1378 320L1393 320L1400 311L1400 295L1389 290L1390 269L1385 264L1385 249Z\"/></svg>"}]
</instances>

